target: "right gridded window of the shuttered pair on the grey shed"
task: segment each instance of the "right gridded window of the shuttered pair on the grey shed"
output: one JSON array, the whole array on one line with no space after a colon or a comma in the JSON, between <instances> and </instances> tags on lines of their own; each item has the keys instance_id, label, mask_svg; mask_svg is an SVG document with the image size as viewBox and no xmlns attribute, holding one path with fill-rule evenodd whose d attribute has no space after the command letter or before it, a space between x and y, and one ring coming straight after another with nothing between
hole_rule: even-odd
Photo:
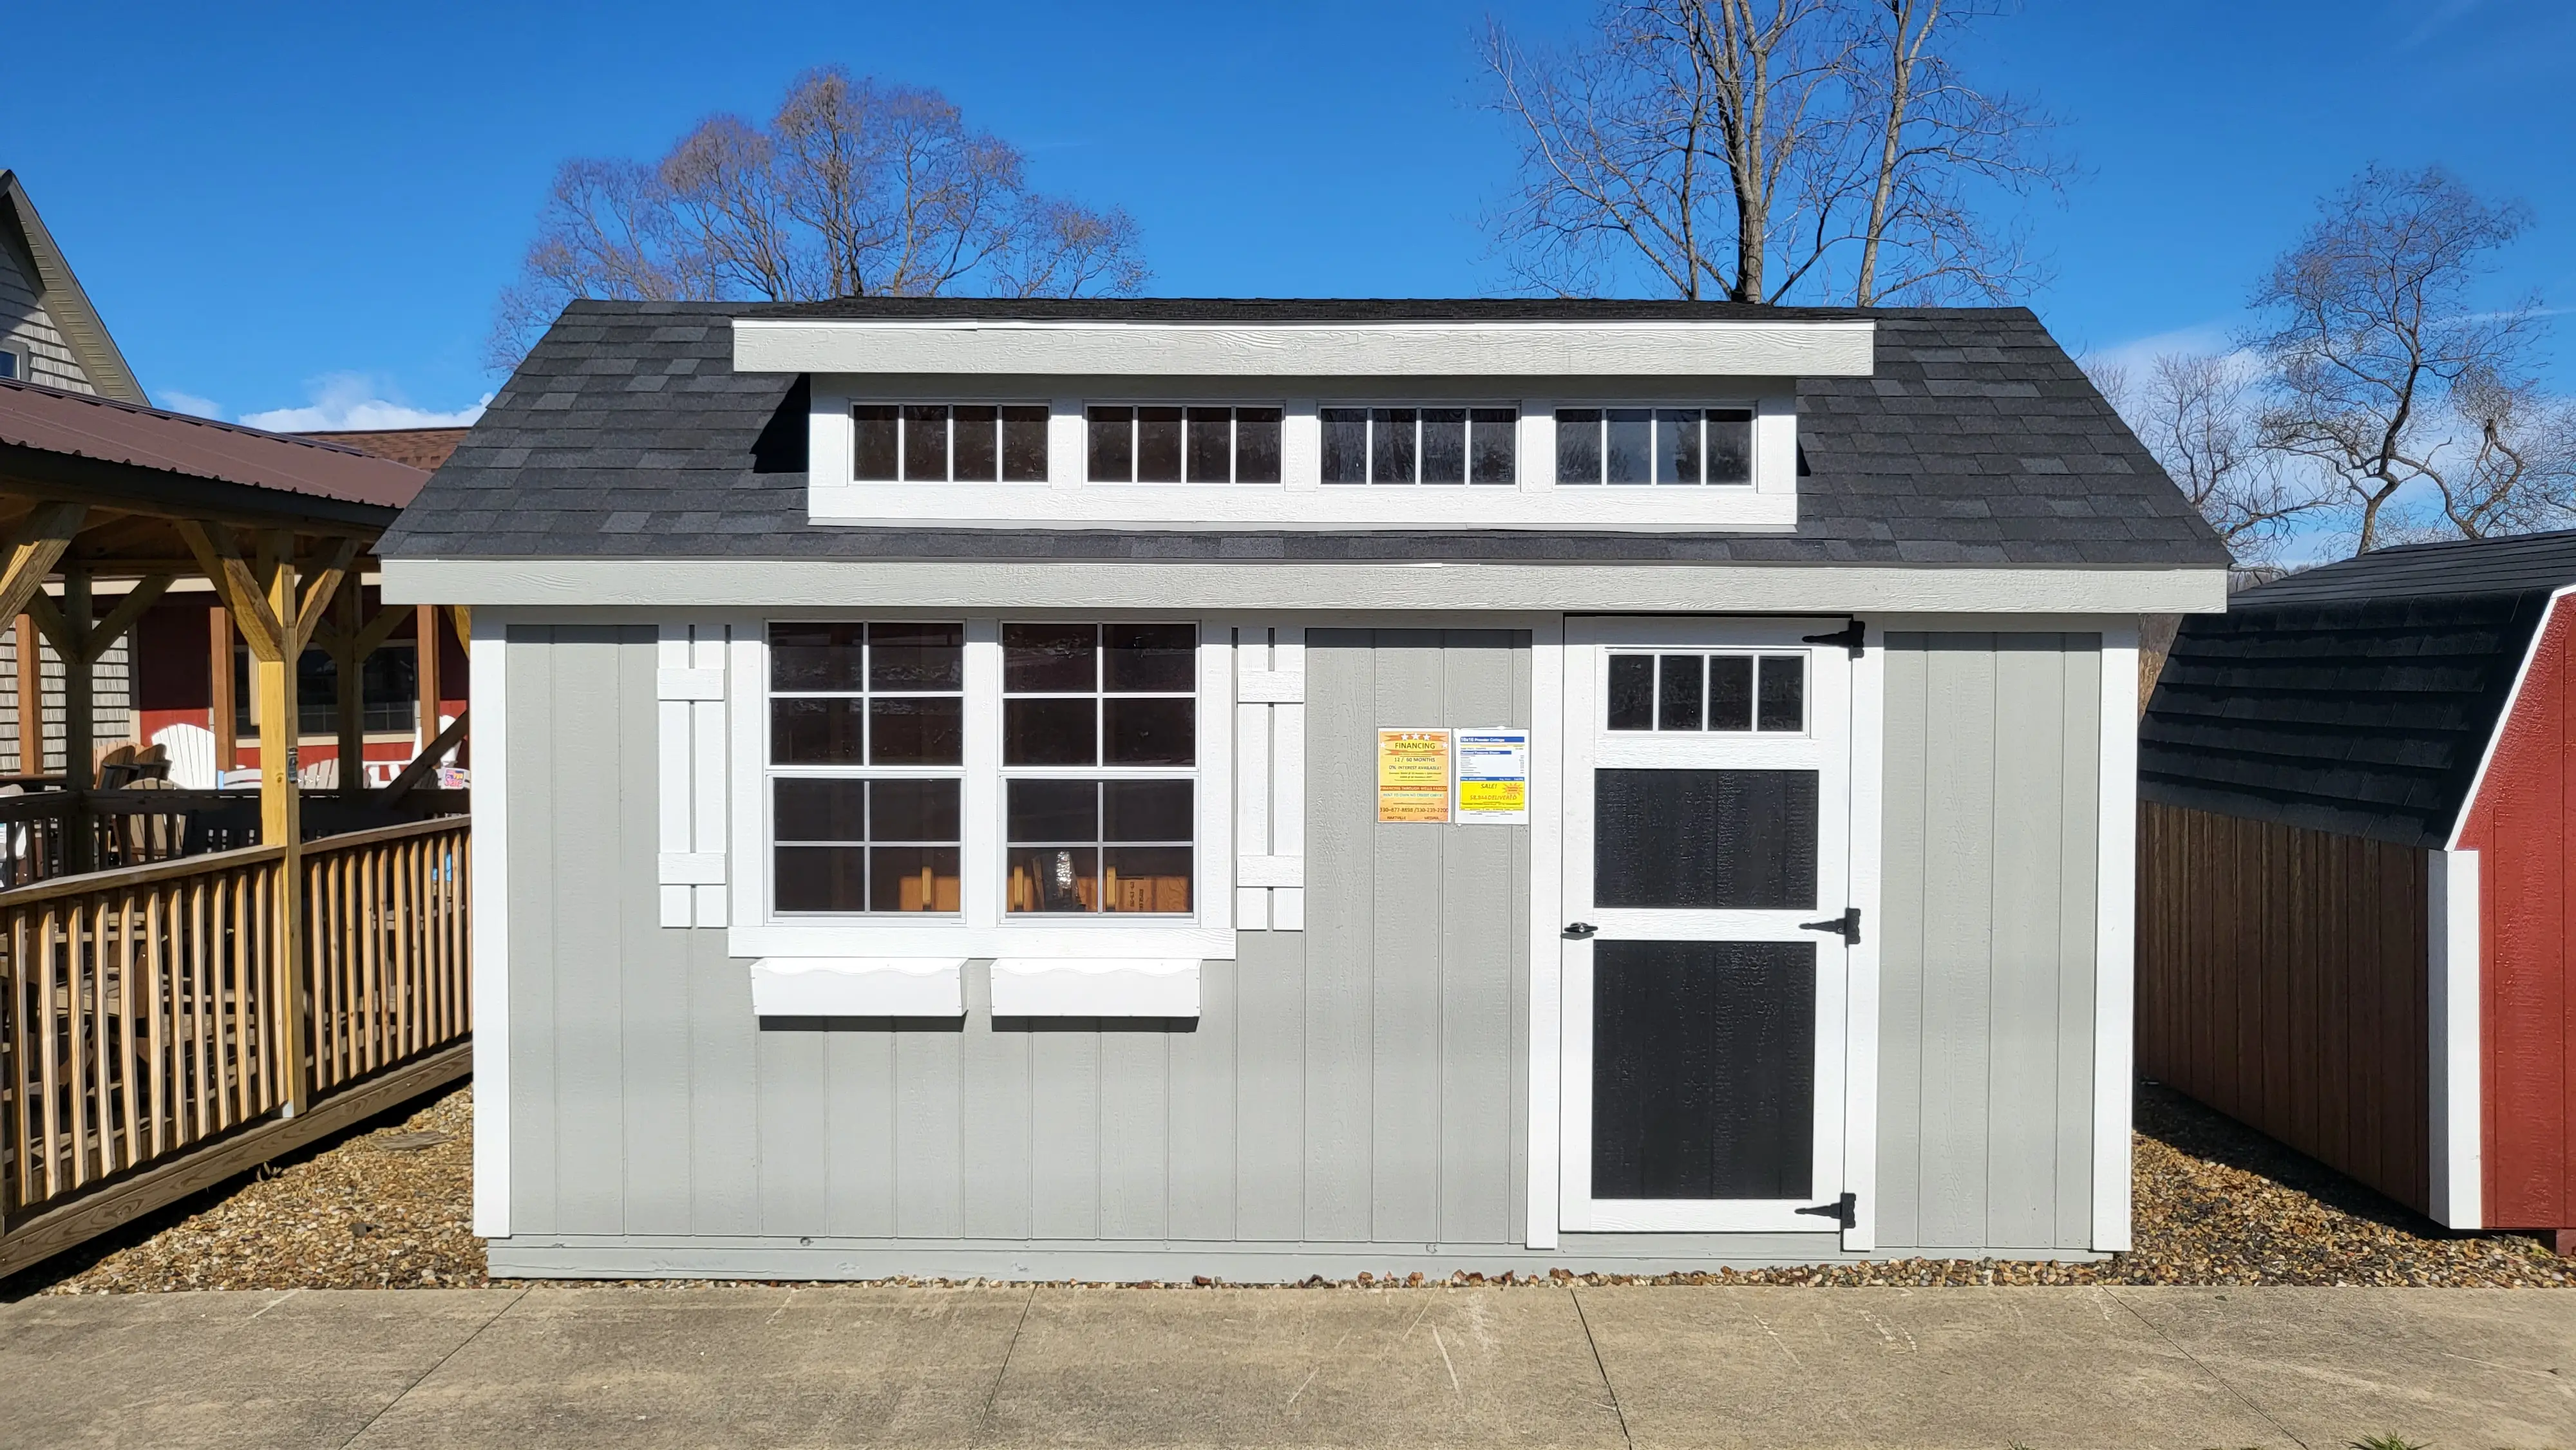
<instances>
[{"instance_id":1,"label":"right gridded window of the shuttered pair on the grey shed","mask_svg":"<svg viewBox=\"0 0 2576 1450\"><path fill-rule=\"evenodd\" d=\"M1198 626L1005 623L1005 912L1195 909Z\"/></svg>"}]
</instances>

